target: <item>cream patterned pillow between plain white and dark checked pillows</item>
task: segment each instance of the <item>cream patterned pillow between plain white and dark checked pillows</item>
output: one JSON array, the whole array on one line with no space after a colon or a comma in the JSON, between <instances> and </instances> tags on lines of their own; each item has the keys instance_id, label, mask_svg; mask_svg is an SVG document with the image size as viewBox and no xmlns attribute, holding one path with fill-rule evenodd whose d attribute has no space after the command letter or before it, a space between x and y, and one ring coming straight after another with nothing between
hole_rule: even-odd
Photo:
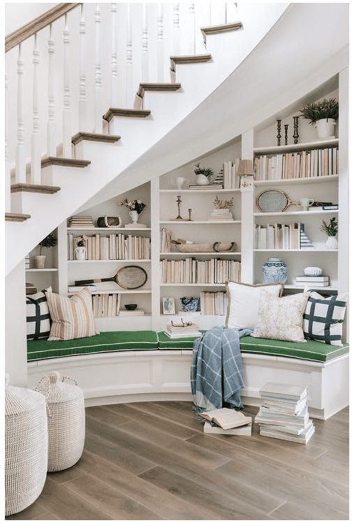
<instances>
[{"instance_id":1,"label":"cream patterned pillow between plain white and dark checked pillows","mask_svg":"<svg viewBox=\"0 0 352 523\"><path fill-rule=\"evenodd\" d=\"M308 298L309 292L277 298L262 289L259 321L251 336L305 343L302 324Z\"/></svg>"}]
</instances>

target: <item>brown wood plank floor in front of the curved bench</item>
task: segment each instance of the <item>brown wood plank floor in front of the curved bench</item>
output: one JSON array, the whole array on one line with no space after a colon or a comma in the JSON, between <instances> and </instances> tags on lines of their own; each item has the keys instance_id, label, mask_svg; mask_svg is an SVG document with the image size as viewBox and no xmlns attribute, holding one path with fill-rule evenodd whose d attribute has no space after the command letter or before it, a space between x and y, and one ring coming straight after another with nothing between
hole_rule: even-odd
<instances>
[{"instance_id":1,"label":"brown wood plank floor in front of the curved bench","mask_svg":"<svg viewBox=\"0 0 352 523\"><path fill-rule=\"evenodd\" d=\"M210 436L185 401L87 408L78 464L7 520L348 520L349 409L307 445ZM257 408L244 413L255 416Z\"/></svg>"}]
</instances>

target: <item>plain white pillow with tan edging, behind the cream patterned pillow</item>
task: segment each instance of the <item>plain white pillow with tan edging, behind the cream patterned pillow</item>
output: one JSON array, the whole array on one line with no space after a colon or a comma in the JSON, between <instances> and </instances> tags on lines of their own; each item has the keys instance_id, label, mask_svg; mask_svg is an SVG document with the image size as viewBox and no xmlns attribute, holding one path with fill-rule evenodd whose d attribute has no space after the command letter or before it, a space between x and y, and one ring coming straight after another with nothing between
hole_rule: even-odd
<instances>
[{"instance_id":1,"label":"plain white pillow with tan edging, behind the cream patterned pillow","mask_svg":"<svg viewBox=\"0 0 352 523\"><path fill-rule=\"evenodd\" d=\"M227 282L228 310L226 327L229 329L247 329L258 323L259 301L263 287L277 298L284 286L281 283L249 285L247 283Z\"/></svg>"}]
</instances>

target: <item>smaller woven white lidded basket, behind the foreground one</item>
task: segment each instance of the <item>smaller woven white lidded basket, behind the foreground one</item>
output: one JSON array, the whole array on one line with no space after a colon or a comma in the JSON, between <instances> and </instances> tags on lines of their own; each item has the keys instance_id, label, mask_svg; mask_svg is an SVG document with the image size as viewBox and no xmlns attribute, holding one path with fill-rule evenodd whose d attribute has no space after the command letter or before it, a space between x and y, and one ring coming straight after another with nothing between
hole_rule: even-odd
<instances>
[{"instance_id":1,"label":"smaller woven white lidded basket, behind the foreground one","mask_svg":"<svg viewBox=\"0 0 352 523\"><path fill-rule=\"evenodd\" d=\"M85 445L85 398L80 387L60 381L57 371L47 373L36 386L47 403L47 471L63 471L77 463Z\"/></svg>"}]
</instances>

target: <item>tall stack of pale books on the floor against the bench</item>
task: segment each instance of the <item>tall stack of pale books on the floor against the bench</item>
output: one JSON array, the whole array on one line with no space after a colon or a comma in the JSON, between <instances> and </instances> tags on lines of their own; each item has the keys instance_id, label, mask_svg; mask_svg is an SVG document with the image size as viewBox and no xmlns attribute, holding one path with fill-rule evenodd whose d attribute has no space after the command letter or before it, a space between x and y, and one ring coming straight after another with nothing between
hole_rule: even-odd
<instances>
[{"instance_id":1,"label":"tall stack of pale books on the floor against the bench","mask_svg":"<svg viewBox=\"0 0 352 523\"><path fill-rule=\"evenodd\" d=\"M309 420L307 387L268 382L260 392L263 403L254 421L261 436L308 443L314 425Z\"/></svg>"}]
</instances>

